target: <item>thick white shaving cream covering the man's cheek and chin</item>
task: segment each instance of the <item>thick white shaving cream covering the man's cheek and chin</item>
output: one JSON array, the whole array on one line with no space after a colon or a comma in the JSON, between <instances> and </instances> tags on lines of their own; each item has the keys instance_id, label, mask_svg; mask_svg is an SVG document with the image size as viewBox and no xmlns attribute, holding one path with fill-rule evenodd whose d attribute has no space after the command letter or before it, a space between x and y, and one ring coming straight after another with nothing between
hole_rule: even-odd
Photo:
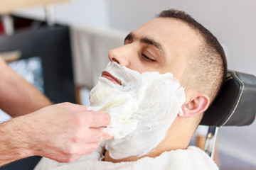
<instances>
[{"instance_id":1,"label":"thick white shaving cream covering the man's cheek and chin","mask_svg":"<svg viewBox=\"0 0 256 170\"><path fill-rule=\"evenodd\" d=\"M112 159L141 157L166 137L174 119L181 113L185 92L171 73L143 72L110 62L106 72L122 85L99 77L90 92L94 111L106 111L111 123L105 129L114 140L106 149Z\"/></svg>"}]
</instances>

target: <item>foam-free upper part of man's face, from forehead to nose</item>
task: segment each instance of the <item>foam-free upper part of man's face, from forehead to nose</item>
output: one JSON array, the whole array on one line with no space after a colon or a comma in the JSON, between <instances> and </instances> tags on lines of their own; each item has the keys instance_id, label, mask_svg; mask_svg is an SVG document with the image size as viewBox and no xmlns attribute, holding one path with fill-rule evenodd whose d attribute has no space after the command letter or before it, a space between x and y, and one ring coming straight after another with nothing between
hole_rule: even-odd
<instances>
[{"instance_id":1,"label":"foam-free upper part of man's face, from forehead to nose","mask_svg":"<svg viewBox=\"0 0 256 170\"><path fill-rule=\"evenodd\" d=\"M196 33L173 18L156 18L127 35L124 46L110 50L111 62L138 72L171 72L181 79L187 57L199 45Z\"/></svg>"}]
</instances>

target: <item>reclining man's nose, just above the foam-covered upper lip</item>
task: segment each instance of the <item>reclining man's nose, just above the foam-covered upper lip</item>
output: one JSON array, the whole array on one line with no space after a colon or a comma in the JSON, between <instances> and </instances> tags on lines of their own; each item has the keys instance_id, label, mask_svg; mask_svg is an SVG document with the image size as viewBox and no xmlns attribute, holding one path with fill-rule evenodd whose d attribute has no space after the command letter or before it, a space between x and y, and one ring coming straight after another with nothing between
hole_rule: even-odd
<instances>
[{"instance_id":1,"label":"reclining man's nose, just above the foam-covered upper lip","mask_svg":"<svg viewBox=\"0 0 256 170\"><path fill-rule=\"evenodd\" d=\"M110 62L117 62L118 64L129 67L130 58L129 52L124 48L125 46L114 48L108 53Z\"/></svg>"}]
</instances>

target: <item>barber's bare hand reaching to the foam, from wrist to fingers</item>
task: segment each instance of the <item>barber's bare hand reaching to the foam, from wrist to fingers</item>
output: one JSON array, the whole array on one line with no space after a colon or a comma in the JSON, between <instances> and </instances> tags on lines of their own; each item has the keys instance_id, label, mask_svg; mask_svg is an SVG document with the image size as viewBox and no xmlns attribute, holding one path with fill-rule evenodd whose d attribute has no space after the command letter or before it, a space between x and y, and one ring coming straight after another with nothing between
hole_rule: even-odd
<instances>
[{"instance_id":1,"label":"barber's bare hand reaching to the foam, from wrist to fingers","mask_svg":"<svg viewBox=\"0 0 256 170\"><path fill-rule=\"evenodd\" d=\"M88 111L85 106L60 103L16 118L20 142L31 155L58 162L73 162L112 137L102 132L110 124L108 113Z\"/></svg>"}]
</instances>

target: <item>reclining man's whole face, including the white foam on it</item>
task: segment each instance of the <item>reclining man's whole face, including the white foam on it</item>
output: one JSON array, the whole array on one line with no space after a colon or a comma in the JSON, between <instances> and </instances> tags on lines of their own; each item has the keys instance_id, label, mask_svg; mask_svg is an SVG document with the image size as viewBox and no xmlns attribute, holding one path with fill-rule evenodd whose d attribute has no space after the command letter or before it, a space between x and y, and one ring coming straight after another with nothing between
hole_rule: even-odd
<instances>
[{"instance_id":1,"label":"reclining man's whole face, including the white foam on it","mask_svg":"<svg viewBox=\"0 0 256 170\"><path fill-rule=\"evenodd\" d=\"M156 18L127 35L124 46L109 52L112 63L102 72L102 77L110 81L100 77L91 91L90 101L92 107L98 108L96 111L107 111L117 120L108 129L113 130L115 137L120 137L122 130L134 127L128 135L107 142L112 158L140 157L164 140L186 101L185 91L176 79L181 79L187 57L197 49L198 43L196 33L186 24L171 18ZM166 72L174 74L176 79ZM126 113L128 108L133 111ZM130 121L134 121L133 126ZM124 148L132 149L119 152Z\"/></svg>"}]
</instances>

